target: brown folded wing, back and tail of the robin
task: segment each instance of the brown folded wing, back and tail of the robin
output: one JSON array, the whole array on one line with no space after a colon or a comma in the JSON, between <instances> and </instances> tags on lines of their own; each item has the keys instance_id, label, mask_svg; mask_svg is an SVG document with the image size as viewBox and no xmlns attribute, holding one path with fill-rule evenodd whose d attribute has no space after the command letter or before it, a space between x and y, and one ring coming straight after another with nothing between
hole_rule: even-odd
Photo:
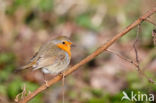
<instances>
[{"instance_id":1,"label":"brown folded wing, back and tail of the robin","mask_svg":"<svg viewBox=\"0 0 156 103\"><path fill-rule=\"evenodd\" d=\"M40 69L58 63L60 60L64 59L65 56L64 52L60 51L60 48L56 45L47 43L42 46L39 49L39 52L32 57L30 62L22 68L25 69L32 67L34 70Z\"/></svg>"}]
</instances>

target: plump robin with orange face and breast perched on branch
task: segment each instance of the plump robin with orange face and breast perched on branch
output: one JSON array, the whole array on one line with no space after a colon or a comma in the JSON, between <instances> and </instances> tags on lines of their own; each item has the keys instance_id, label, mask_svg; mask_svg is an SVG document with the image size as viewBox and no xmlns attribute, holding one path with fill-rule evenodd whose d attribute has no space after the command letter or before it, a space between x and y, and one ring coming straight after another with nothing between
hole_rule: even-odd
<instances>
[{"instance_id":1,"label":"plump robin with orange face and breast perched on branch","mask_svg":"<svg viewBox=\"0 0 156 103\"><path fill-rule=\"evenodd\" d=\"M38 52L21 69L40 69L44 74L57 75L65 71L71 60L72 42L68 37L59 36L42 45ZM46 85L47 81L45 80ZM48 85L47 85L48 86Z\"/></svg>"}]
</instances>

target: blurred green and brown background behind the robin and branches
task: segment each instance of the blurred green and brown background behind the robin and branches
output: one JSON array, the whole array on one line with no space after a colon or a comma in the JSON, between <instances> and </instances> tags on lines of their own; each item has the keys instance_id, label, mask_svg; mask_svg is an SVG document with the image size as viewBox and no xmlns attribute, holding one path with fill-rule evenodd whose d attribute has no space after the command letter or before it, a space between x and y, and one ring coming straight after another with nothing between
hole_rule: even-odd
<instances>
[{"instance_id":1,"label":"blurred green and brown background behind the robin and branches","mask_svg":"<svg viewBox=\"0 0 156 103\"><path fill-rule=\"evenodd\" d=\"M46 41L58 35L70 37L76 44L72 66L155 5L155 0L0 0L0 103L13 103L24 84L27 91L34 91L43 83L40 71L14 70L25 65ZM156 22L156 14L150 19ZM137 48L141 68L156 80L154 28L142 23ZM135 60L136 33L137 28L109 49ZM156 85L140 76L132 64L108 52L65 79L65 103L120 103L122 91L156 94ZM62 103L61 82L29 103Z\"/></svg>"}]
</instances>

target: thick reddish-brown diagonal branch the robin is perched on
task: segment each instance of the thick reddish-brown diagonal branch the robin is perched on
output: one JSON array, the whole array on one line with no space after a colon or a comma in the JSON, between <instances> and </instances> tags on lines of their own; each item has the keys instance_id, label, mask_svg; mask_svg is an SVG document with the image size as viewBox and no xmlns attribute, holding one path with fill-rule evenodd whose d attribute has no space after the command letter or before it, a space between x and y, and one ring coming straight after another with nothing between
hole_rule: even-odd
<instances>
[{"instance_id":1,"label":"thick reddish-brown diagonal branch the robin is perched on","mask_svg":"<svg viewBox=\"0 0 156 103\"><path fill-rule=\"evenodd\" d=\"M144 20L146 20L149 16L151 16L155 12L156 12L156 8L153 8L153 9L149 10L148 12L146 12L143 16L141 16L140 18L138 18L135 22L133 22L131 25L129 25L127 28L125 28L122 32L120 32L117 35L115 35L111 40L109 40L107 43L103 44L96 51L94 51L92 54L90 54L89 56L87 56L86 58L84 58L83 60L81 60L79 63L77 63L74 66L72 66L71 68L69 68L63 74L65 76L67 76L67 75L71 74L72 72L76 71L80 66L86 64L87 62L89 62L90 60L92 60L93 58L95 58L96 56L98 56L99 54L101 54L108 47L110 47L114 42L116 42L118 39L120 39L122 36L124 36L127 32L129 32L130 30L132 30L133 28L135 28L137 25L139 25L141 22L143 22ZM61 79L62 79L62 76L61 75L57 75L56 77L54 77L51 80L49 80L47 82L47 84L48 84L48 86L51 86L51 85L55 84L56 82L58 82ZM19 103L27 103L33 97L35 97L37 94L39 94L40 92L42 92L45 89L47 89L46 84L41 85L34 92L32 92L28 96L26 96L23 99L21 99L19 101Z\"/></svg>"}]
</instances>

